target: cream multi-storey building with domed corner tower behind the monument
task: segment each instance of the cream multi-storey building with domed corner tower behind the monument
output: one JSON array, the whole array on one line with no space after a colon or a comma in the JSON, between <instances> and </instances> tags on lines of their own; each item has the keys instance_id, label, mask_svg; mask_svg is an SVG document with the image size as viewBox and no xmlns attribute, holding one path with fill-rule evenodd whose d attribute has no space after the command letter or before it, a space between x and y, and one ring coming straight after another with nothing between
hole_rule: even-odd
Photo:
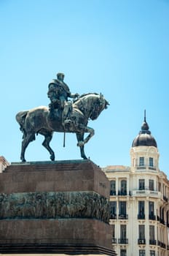
<instances>
[{"instance_id":1,"label":"cream multi-storey building with domed corner tower behind the monument","mask_svg":"<svg viewBox=\"0 0 169 256\"><path fill-rule=\"evenodd\" d=\"M103 168L109 178L112 244L119 256L169 255L169 181L144 117L130 148L130 167Z\"/></svg>"}]
</instances>

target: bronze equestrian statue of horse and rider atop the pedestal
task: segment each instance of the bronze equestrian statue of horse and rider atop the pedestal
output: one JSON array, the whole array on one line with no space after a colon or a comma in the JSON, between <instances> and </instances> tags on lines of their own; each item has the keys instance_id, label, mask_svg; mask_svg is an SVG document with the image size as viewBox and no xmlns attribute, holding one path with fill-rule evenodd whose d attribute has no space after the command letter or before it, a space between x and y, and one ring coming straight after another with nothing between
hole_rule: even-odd
<instances>
[{"instance_id":1,"label":"bronze equestrian statue of horse and rider atop the pedestal","mask_svg":"<svg viewBox=\"0 0 169 256\"><path fill-rule=\"evenodd\" d=\"M20 111L16 115L20 130L23 132L21 161L25 162L25 149L31 141L35 140L37 134L44 135L42 145L47 148L50 152L50 159L54 161L55 153L50 147L53 132L64 132L64 135L66 132L76 133L81 157L87 159L84 144L95 133L93 128L87 126L88 121L98 118L109 102L104 99L103 94L87 93L81 96L77 93L71 94L64 82L63 73L58 73L57 79L50 82L47 97L50 98L49 107L40 106ZM84 138L84 133L88 133L86 138Z\"/></svg>"}]
</instances>

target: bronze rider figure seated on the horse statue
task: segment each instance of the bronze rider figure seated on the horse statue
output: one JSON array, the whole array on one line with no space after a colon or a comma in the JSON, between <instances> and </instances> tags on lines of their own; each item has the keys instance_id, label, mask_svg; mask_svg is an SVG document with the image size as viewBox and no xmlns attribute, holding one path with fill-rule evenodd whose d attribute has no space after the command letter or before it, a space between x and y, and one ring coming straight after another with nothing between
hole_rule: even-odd
<instances>
[{"instance_id":1,"label":"bronze rider figure seated on the horse statue","mask_svg":"<svg viewBox=\"0 0 169 256\"><path fill-rule=\"evenodd\" d=\"M68 110L72 107L71 102L68 101L69 98L76 98L79 97L79 94L71 94L70 89L68 88L67 84L63 81L65 75L63 73L58 73L58 79L52 79L48 86L47 96L50 98L50 110L55 108L60 108L62 110L62 124L68 124L71 122L67 118Z\"/></svg>"}]
</instances>

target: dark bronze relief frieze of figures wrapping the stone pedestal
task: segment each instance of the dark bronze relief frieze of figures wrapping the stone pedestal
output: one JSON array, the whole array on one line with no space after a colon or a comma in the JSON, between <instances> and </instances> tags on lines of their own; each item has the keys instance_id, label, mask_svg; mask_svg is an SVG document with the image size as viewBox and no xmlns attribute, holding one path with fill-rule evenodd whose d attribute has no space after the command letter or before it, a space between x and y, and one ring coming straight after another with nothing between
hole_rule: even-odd
<instances>
[{"instance_id":1,"label":"dark bronze relief frieze of figures wrapping the stone pedestal","mask_svg":"<svg viewBox=\"0 0 169 256\"><path fill-rule=\"evenodd\" d=\"M95 192L0 194L0 219L94 218L109 223L109 200Z\"/></svg>"}]
</instances>

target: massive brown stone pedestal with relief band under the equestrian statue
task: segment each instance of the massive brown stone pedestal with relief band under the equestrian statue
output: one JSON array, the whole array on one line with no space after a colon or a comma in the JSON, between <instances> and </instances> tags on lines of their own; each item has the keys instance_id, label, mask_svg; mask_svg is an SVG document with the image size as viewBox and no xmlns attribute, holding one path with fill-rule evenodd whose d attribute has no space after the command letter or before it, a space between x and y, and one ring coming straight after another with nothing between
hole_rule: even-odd
<instances>
[{"instance_id":1,"label":"massive brown stone pedestal with relief band under the equestrian statue","mask_svg":"<svg viewBox=\"0 0 169 256\"><path fill-rule=\"evenodd\" d=\"M0 253L116 255L109 181L90 160L12 163L0 208Z\"/></svg>"}]
</instances>

